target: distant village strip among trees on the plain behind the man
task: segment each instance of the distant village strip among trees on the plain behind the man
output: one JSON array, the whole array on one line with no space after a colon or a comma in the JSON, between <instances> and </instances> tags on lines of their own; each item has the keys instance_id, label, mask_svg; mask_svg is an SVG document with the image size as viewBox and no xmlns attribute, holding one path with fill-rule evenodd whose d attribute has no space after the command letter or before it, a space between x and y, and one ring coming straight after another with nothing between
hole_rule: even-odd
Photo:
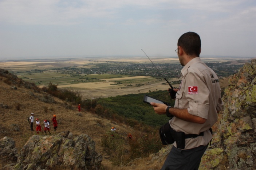
<instances>
[{"instance_id":1,"label":"distant village strip among trees on the plain behind the man","mask_svg":"<svg viewBox=\"0 0 256 170\"><path fill-rule=\"evenodd\" d=\"M227 77L238 72L243 65L229 65L229 62L206 63L212 68L219 78ZM88 66L88 65L84 65ZM59 68L59 72L76 74L121 74L131 76L152 76L155 78L180 78L180 71L183 68L180 64L158 63L155 64L158 71L151 63L98 63L93 68L85 67L64 67ZM162 75L161 75L162 74Z\"/></svg>"}]
</instances>

